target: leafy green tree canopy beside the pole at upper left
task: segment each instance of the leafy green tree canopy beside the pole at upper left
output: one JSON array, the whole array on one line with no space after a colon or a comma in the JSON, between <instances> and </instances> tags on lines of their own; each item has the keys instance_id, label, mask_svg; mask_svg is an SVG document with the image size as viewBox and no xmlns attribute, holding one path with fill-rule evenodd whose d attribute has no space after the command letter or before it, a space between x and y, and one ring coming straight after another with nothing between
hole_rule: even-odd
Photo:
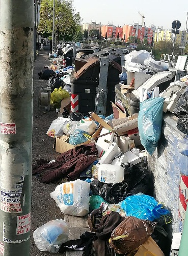
<instances>
[{"instance_id":1,"label":"leafy green tree canopy beside the pole at upper left","mask_svg":"<svg viewBox=\"0 0 188 256\"><path fill-rule=\"evenodd\" d=\"M57 39L72 40L80 25L80 14L75 12L72 0L55 0L55 33ZM37 32L44 36L52 35L53 0L42 0L40 24Z\"/></svg>"}]
</instances>

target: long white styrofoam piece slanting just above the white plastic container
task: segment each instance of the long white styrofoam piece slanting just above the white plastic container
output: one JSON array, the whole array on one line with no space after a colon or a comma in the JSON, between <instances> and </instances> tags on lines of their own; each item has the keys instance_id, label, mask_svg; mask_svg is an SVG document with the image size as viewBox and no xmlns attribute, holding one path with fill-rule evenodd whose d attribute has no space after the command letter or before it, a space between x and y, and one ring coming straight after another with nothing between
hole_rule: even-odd
<instances>
[{"instance_id":1,"label":"long white styrofoam piece slanting just above the white plastic container","mask_svg":"<svg viewBox=\"0 0 188 256\"><path fill-rule=\"evenodd\" d=\"M114 157L116 157L121 152L118 145L113 142L112 145L109 147L109 149L104 153L104 155L101 157L101 159L96 164L96 167L98 168L101 164L106 163L109 164L112 162Z\"/></svg>"}]
</instances>

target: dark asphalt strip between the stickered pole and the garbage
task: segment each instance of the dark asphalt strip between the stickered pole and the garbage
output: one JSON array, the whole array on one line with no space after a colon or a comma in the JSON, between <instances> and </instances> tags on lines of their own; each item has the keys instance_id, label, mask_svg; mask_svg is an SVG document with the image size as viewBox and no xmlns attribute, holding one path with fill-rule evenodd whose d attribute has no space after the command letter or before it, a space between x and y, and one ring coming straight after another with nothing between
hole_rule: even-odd
<instances>
[{"instance_id":1,"label":"dark asphalt strip between the stickered pole and the garbage","mask_svg":"<svg viewBox=\"0 0 188 256\"><path fill-rule=\"evenodd\" d=\"M59 156L59 153L53 150L54 139L46 135L51 122L58 117L58 113L38 109L39 89L45 88L48 82L40 80L38 73L43 70L44 65L50 65L48 53L47 50L40 51L34 62L33 164L36 164L40 158L50 161ZM35 176L32 177L31 256L54 255L38 250L33 240L33 231L50 220L63 219L63 214L56 206L55 200L50 198L50 193L55 188L55 184L44 184Z\"/></svg>"}]
</instances>

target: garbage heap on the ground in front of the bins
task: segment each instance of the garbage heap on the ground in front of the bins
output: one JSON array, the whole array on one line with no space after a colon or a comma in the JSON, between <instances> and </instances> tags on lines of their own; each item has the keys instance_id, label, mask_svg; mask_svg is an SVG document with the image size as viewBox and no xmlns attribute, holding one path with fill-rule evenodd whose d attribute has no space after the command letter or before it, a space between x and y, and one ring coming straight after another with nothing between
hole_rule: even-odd
<instances>
[{"instance_id":1,"label":"garbage heap on the ground in front of the bins","mask_svg":"<svg viewBox=\"0 0 188 256\"><path fill-rule=\"evenodd\" d=\"M66 223L53 220L34 232L39 250L164 255L164 226L171 222L171 214L152 197L147 154L135 132L138 114L126 117L115 105L114 109L109 117L70 113L51 123L47 135L55 138L61 155L50 162L41 159L33 166L33 175L58 183L51 198L66 215L88 215L91 232L68 240ZM117 112L121 118L115 118Z\"/></svg>"}]
</instances>

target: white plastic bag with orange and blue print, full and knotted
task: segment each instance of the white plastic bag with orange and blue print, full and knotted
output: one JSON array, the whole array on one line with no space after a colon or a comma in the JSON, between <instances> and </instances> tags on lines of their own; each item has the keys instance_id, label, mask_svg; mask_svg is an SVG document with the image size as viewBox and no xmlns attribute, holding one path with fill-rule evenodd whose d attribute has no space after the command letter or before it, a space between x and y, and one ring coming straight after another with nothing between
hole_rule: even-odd
<instances>
[{"instance_id":1,"label":"white plastic bag with orange and blue print, full and knotted","mask_svg":"<svg viewBox=\"0 0 188 256\"><path fill-rule=\"evenodd\" d=\"M50 193L64 214L85 216L89 212L90 184L75 180L60 184Z\"/></svg>"}]
</instances>

